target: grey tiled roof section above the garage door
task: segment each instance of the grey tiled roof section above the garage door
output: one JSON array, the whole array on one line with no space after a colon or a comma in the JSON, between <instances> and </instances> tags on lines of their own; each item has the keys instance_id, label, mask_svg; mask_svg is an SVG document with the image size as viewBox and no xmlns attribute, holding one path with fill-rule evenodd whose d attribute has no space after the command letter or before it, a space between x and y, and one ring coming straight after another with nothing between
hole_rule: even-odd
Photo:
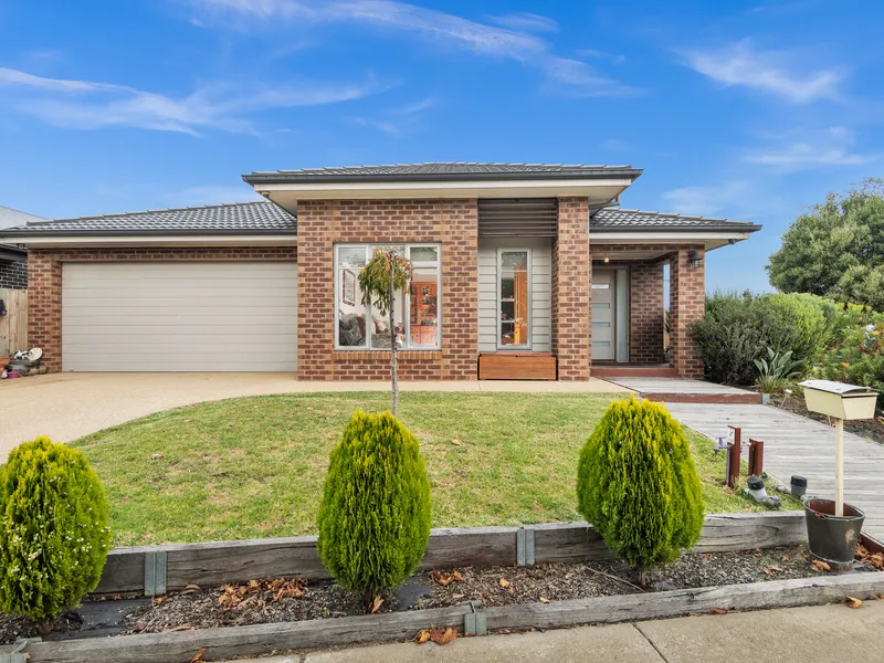
<instances>
[{"instance_id":1,"label":"grey tiled roof section above the garage door","mask_svg":"<svg viewBox=\"0 0 884 663\"><path fill-rule=\"evenodd\" d=\"M103 233L294 233L297 220L280 206L261 200L206 207L150 210L101 217L35 221L0 230L0 235Z\"/></svg>"}]
</instances>

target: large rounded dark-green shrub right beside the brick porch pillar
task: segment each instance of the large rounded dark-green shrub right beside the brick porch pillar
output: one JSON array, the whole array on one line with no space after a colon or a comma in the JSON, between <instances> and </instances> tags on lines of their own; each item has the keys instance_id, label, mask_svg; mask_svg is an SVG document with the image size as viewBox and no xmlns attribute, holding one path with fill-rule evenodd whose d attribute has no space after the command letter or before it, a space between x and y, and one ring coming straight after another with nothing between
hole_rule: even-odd
<instances>
[{"instance_id":1,"label":"large rounded dark-green shrub right beside the brick porch pillar","mask_svg":"<svg viewBox=\"0 0 884 663\"><path fill-rule=\"evenodd\" d=\"M824 311L810 295L716 293L706 299L705 315L691 325L691 335L709 380L751 385L755 361L768 348L791 351L806 366L820 359L832 336Z\"/></svg>"}]
</instances>

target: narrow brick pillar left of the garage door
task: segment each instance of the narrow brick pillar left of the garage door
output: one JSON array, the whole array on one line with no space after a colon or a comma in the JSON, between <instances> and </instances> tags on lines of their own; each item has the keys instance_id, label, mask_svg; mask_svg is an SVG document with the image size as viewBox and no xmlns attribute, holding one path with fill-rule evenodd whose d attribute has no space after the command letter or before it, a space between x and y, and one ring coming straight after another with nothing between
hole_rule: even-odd
<instances>
[{"instance_id":1,"label":"narrow brick pillar left of the garage door","mask_svg":"<svg viewBox=\"0 0 884 663\"><path fill-rule=\"evenodd\" d=\"M57 372L62 369L61 262L51 253L31 251L28 284L28 344L42 348L43 366Z\"/></svg>"}]
</instances>

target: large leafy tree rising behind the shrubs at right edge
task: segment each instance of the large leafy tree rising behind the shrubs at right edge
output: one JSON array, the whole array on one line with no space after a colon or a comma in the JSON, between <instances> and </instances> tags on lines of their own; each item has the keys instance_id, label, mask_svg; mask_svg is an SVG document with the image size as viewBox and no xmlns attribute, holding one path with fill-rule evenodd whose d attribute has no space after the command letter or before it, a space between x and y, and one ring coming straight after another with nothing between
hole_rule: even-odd
<instances>
[{"instance_id":1,"label":"large leafy tree rising behind the shrubs at right edge","mask_svg":"<svg viewBox=\"0 0 884 663\"><path fill-rule=\"evenodd\" d=\"M884 305L884 179L830 193L801 214L767 265L770 283L792 293Z\"/></svg>"}]
</instances>

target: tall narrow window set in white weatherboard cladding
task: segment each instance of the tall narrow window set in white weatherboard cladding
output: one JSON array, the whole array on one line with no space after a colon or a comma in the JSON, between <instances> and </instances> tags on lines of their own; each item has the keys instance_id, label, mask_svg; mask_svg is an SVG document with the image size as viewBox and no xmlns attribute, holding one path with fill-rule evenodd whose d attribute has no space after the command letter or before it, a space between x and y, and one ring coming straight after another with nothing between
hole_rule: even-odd
<instances>
[{"instance_id":1,"label":"tall narrow window set in white weatherboard cladding","mask_svg":"<svg viewBox=\"0 0 884 663\"><path fill-rule=\"evenodd\" d=\"M526 348L530 311L530 251L497 251L497 347Z\"/></svg>"}]
</instances>

